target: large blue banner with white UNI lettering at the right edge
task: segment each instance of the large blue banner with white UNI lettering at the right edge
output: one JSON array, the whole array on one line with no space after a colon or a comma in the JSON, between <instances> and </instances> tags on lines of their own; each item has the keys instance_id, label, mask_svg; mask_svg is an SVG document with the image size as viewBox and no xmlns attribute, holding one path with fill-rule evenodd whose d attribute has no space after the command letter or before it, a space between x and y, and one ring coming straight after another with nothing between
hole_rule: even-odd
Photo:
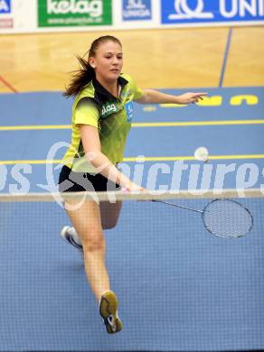
<instances>
[{"instance_id":1,"label":"large blue banner with white UNI lettering at the right edge","mask_svg":"<svg viewBox=\"0 0 264 352\"><path fill-rule=\"evenodd\" d=\"M166 24L264 22L264 0L161 0L161 21Z\"/></svg>"}]
</instances>

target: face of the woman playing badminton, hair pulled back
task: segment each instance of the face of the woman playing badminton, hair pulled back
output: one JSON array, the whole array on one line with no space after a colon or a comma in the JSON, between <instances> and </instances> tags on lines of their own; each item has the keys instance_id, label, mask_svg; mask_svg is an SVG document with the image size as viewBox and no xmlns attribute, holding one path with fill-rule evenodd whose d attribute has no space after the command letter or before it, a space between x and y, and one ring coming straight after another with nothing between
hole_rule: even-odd
<instances>
[{"instance_id":1,"label":"face of the woman playing badminton, hair pulled back","mask_svg":"<svg viewBox=\"0 0 264 352\"><path fill-rule=\"evenodd\" d=\"M123 52L118 42L104 42L99 45L96 55L90 58L90 64L95 66L98 79L118 79L123 67Z\"/></svg>"}]
</instances>

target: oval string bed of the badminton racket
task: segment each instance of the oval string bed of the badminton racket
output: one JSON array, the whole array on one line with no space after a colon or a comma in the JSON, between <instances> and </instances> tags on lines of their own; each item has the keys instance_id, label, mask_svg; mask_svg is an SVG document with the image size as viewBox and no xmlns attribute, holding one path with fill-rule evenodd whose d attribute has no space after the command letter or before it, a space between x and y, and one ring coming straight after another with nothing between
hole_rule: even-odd
<instances>
[{"instance_id":1,"label":"oval string bed of the badminton racket","mask_svg":"<svg viewBox=\"0 0 264 352\"><path fill-rule=\"evenodd\" d=\"M252 224L250 211L231 199L212 200L203 210L203 225L216 236L244 236Z\"/></svg>"}]
</instances>

